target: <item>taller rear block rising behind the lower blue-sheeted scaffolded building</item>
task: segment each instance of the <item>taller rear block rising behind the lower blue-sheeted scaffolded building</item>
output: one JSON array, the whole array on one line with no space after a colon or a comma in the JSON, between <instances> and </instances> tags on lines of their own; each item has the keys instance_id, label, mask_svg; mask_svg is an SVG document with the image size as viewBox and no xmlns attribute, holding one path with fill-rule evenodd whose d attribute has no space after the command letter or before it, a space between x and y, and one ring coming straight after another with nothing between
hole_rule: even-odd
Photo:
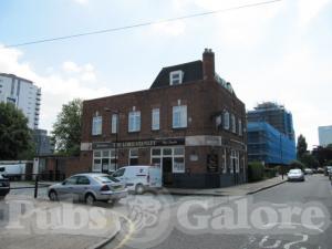
<instances>
[{"instance_id":1,"label":"taller rear block rising behind the lower blue-sheeted scaffolded building","mask_svg":"<svg viewBox=\"0 0 332 249\"><path fill-rule=\"evenodd\" d=\"M273 102L263 102L247 114L248 123L266 122L277 128L280 133L294 141L294 128L292 114L283 105Z\"/></svg>"}]
</instances>

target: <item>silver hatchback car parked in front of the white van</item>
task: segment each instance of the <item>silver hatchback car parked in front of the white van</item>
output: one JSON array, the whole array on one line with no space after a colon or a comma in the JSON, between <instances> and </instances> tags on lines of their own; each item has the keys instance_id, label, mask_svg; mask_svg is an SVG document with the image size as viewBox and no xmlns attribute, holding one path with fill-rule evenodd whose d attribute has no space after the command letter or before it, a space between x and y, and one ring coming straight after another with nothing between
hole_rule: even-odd
<instances>
[{"instance_id":1,"label":"silver hatchback car parked in front of the white van","mask_svg":"<svg viewBox=\"0 0 332 249\"><path fill-rule=\"evenodd\" d=\"M127 193L125 186L117 179L100 173L73 175L64 181L49 187L51 200L70 198L83 200L89 205L96 200L116 203L126 197Z\"/></svg>"}]
</instances>

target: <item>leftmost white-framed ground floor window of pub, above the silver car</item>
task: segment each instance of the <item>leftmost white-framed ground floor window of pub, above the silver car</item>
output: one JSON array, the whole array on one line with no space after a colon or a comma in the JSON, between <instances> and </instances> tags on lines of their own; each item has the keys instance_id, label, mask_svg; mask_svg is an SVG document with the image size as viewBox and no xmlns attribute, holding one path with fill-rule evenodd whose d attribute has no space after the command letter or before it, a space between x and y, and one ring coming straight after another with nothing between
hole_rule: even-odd
<instances>
[{"instance_id":1,"label":"leftmost white-framed ground floor window of pub, above the silver car","mask_svg":"<svg viewBox=\"0 0 332 249\"><path fill-rule=\"evenodd\" d=\"M115 149L94 151L92 172L114 172L115 170Z\"/></svg>"}]
</instances>

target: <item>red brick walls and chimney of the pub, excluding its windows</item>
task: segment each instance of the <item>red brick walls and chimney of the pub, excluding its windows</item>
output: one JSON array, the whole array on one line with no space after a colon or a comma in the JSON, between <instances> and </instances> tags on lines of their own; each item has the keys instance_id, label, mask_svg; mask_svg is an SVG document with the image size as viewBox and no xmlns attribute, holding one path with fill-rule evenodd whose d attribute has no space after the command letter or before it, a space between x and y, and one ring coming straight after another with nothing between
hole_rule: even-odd
<instances>
[{"instance_id":1,"label":"red brick walls and chimney of the pub, excluding its windows","mask_svg":"<svg viewBox=\"0 0 332 249\"><path fill-rule=\"evenodd\" d=\"M83 103L81 162L89 165L91 170L94 169L93 153L95 151L103 153L103 149L95 149L103 145L101 143L108 143L110 146L105 145L104 147L106 151L116 149L117 167L128 165L129 149L133 148L138 151L138 164L149 165L152 164L153 148L163 151L163 148L169 147L173 148L175 155L175 148L179 147L184 148L185 170L167 173L172 178L168 184L177 187L220 187L246 181L245 104L237 98L232 90L218 82L215 75L215 54L210 50L206 50L203 61L196 63L201 63L201 79L185 81L178 85L152 87L146 91L85 101ZM178 65L177 69L181 70L181 66ZM189 71L190 63L186 66L189 69L184 70L184 75L197 74L193 70ZM187 106L187 125L183 128L174 128L173 107L179 105ZM158 131L152 129L153 108L159 108ZM128 132L128 113L132 111L141 112L141 129L133 133ZM230 114L229 129L224 128L225 112ZM112 134L112 114L118 114L117 134ZM100 135L92 135L93 117L95 116L102 117ZM218 126L217 120L220 117L221 124ZM234 132L231 124L236 125ZM178 139L175 145L172 145L173 142L170 144L165 142L166 145L160 146L163 141L173 138ZM144 141L152 145L139 144ZM160 143L158 144L156 141ZM133 143L123 144L124 142ZM165 153L167 153L166 151ZM237 155L236 159L231 155ZM173 166L176 160L174 158ZM164 157L160 160L163 167L163 162L166 164L167 160L164 160ZM209 167L214 160L217 160L217 167ZM235 162L237 162L237 169L230 166L234 166Z\"/></svg>"}]
</instances>

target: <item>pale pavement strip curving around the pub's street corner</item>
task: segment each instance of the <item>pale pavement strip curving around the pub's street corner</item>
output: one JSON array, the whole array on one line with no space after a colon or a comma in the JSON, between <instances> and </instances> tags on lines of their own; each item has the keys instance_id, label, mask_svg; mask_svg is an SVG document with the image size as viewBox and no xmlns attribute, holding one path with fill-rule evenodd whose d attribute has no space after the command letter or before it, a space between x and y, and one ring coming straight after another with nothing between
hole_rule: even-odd
<instances>
[{"instance_id":1,"label":"pale pavement strip curving around the pub's street corner","mask_svg":"<svg viewBox=\"0 0 332 249\"><path fill-rule=\"evenodd\" d=\"M209 188L209 189L181 189L181 188L166 188L166 191L172 195L204 195L204 196L246 196L255 193L274 187L287 181L287 176L273 177L270 179L242 184L226 188Z\"/></svg>"}]
</instances>

